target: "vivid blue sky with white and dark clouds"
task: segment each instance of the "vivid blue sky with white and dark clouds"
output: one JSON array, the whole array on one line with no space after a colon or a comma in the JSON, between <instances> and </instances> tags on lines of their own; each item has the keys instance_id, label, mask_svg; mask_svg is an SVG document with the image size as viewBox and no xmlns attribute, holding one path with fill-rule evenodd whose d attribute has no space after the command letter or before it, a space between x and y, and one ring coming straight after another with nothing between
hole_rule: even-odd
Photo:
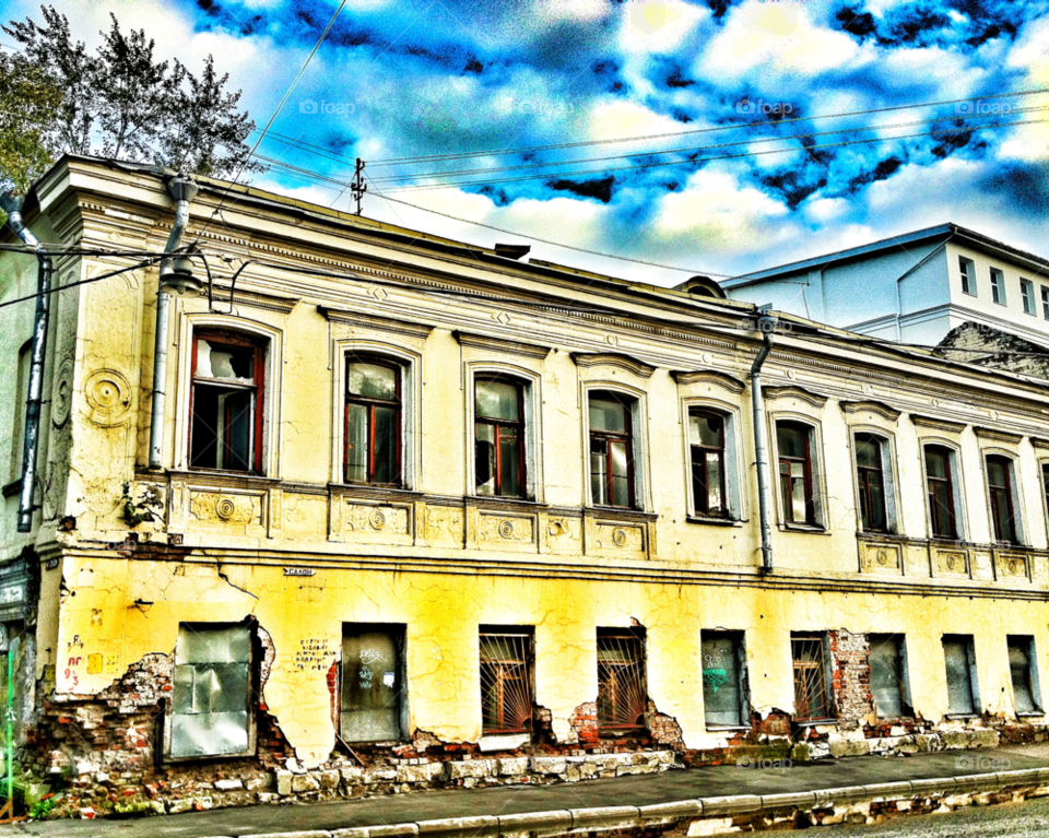
<instances>
[{"instance_id":1,"label":"vivid blue sky with white and dark clouds","mask_svg":"<svg viewBox=\"0 0 1049 838\"><path fill-rule=\"evenodd\" d=\"M213 54L261 127L338 2L55 5L92 45L113 11L164 56ZM31 14L0 1L3 20ZM363 157L366 215L484 245L526 239L380 196L711 274L946 221L1049 255L1049 128L988 127L1049 119L1049 94L991 98L1042 87L1044 2L349 0L260 152L335 180ZM840 144L858 139L875 141ZM463 152L485 153L389 163ZM349 206L341 187L279 166L254 182ZM532 255L663 285L688 275Z\"/></svg>"}]
</instances>

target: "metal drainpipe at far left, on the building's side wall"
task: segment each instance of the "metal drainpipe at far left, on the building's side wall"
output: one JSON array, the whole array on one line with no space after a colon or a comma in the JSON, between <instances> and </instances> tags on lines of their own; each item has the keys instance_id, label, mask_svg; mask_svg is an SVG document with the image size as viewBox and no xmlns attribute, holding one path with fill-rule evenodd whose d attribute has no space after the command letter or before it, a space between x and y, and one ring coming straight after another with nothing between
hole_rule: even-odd
<instances>
[{"instance_id":1,"label":"metal drainpipe at far left, on the building's side wall","mask_svg":"<svg viewBox=\"0 0 1049 838\"><path fill-rule=\"evenodd\" d=\"M25 400L25 438L22 442L22 491L19 494L19 532L33 530L33 488L36 485L36 458L40 447L40 403L44 393L44 357L47 351L47 320L51 308L51 258L22 222L22 199L0 196L8 214L8 226L36 250L36 314L33 317L33 349L30 365L30 392Z\"/></svg>"}]
</instances>

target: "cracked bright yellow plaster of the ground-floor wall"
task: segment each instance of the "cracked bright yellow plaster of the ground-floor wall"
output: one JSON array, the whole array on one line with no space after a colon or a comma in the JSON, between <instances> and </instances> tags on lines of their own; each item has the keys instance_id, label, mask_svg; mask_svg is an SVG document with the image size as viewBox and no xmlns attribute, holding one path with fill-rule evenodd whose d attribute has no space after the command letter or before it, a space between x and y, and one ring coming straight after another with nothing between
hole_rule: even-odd
<instances>
[{"instance_id":1,"label":"cracked bright yellow plaster of the ground-floor wall","mask_svg":"<svg viewBox=\"0 0 1049 838\"><path fill-rule=\"evenodd\" d=\"M286 577L272 566L113 558L69 558L63 574L60 693L101 691L145 654L170 654L179 622L254 615L276 651L263 698L307 765L327 759L334 745L326 676L340 653L343 623L406 626L410 728L452 742L481 735L480 624L534 626L535 701L552 711L564 740L574 709L597 698L596 629L637 619L647 629L650 697L681 724L689 747L709 746L718 735L703 724L704 628L746 632L751 701L763 713L792 709L791 632L904 634L915 707L933 721L946 711L941 633L975 635L980 695L992 713L1012 715L1003 635L1034 634L1037 648L1049 649L1038 603L875 602L838 593L411 571L318 569L313 577ZM306 644L321 649L319 661L298 654ZM91 653L119 654L119 672L86 672ZM76 658L82 661L69 665Z\"/></svg>"}]
</instances>

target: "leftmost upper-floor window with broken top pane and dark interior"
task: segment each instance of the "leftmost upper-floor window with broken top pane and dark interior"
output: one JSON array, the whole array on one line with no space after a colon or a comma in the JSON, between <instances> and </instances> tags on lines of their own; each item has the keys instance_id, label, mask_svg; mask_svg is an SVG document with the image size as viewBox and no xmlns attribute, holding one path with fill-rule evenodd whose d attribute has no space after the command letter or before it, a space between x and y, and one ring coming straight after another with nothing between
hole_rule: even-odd
<instances>
[{"instance_id":1,"label":"leftmost upper-floor window with broken top pane and dark interior","mask_svg":"<svg viewBox=\"0 0 1049 838\"><path fill-rule=\"evenodd\" d=\"M262 473L264 346L232 334L193 340L189 464Z\"/></svg>"}]
</instances>

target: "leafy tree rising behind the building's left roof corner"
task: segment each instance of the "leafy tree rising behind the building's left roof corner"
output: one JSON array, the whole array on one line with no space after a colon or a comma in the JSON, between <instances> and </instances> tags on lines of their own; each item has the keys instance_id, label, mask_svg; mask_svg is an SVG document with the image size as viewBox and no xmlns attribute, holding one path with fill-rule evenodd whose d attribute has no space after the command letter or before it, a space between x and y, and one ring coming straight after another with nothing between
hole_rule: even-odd
<instances>
[{"instance_id":1,"label":"leafy tree rising behind the building's left roof corner","mask_svg":"<svg viewBox=\"0 0 1049 838\"><path fill-rule=\"evenodd\" d=\"M63 14L40 11L43 25L26 19L0 27L22 48L0 66L0 177L24 189L63 153L212 177L264 170L244 142L255 122L237 108L240 92L225 90L229 76L219 75L211 56L199 78L178 59L158 61L145 31L122 32L111 13L92 54Z\"/></svg>"}]
</instances>

